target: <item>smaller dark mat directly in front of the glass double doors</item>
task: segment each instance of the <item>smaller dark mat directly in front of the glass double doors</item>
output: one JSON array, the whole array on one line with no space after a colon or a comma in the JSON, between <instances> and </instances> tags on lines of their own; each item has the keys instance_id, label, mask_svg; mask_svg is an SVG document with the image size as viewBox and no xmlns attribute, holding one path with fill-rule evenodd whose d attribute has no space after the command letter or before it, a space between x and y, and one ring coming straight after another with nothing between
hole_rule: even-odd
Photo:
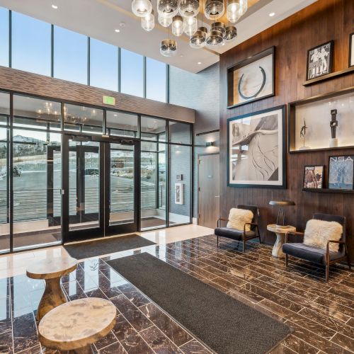
<instances>
[{"instance_id":1,"label":"smaller dark mat directly in front of the glass double doors","mask_svg":"<svg viewBox=\"0 0 354 354\"><path fill-rule=\"evenodd\" d=\"M139 249L144 246L155 244L152 241L144 239L137 234L125 236L110 236L94 241L79 242L77 244L65 244L70 256L76 259L103 256L108 253L127 251L128 249Z\"/></svg>"}]
</instances>

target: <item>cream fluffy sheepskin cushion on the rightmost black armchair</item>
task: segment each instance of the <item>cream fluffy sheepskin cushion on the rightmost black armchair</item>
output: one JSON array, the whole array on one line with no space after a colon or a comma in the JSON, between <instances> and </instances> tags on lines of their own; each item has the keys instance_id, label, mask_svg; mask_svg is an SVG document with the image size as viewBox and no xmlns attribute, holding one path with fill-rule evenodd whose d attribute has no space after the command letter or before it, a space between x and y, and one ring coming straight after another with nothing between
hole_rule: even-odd
<instances>
[{"instance_id":1,"label":"cream fluffy sheepskin cushion on the rightmost black armchair","mask_svg":"<svg viewBox=\"0 0 354 354\"><path fill-rule=\"evenodd\" d=\"M339 241L343 234L343 227L338 222L311 219L306 224L304 244L319 249L326 249L327 241ZM329 244L329 251L338 252L339 244Z\"/></svg>"}]
</instances>

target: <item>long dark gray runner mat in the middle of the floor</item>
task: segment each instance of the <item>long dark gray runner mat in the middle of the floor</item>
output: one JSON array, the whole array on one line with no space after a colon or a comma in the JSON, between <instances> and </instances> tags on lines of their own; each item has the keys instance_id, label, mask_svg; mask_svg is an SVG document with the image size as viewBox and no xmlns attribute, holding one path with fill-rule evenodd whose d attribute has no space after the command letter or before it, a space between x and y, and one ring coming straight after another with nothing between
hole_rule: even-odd
<instances>
[{"instance_id":1,"label":"long dark gray runner mat in the middle of the floor","mask_svg":"<svg viewBox=\"0 0 354 354\"><path fill-rule=\"evenodd\" d=\"M219 354L266 353L292 332L149 253L107 263Z\"/></svg>"}]
</instances>

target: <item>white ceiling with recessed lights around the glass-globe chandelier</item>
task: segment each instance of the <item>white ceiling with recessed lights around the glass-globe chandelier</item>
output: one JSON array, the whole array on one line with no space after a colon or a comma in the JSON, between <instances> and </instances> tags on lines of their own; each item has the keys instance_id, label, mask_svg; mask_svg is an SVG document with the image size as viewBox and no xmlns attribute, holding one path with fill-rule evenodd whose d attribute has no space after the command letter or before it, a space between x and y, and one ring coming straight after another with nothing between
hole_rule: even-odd
<instances>
[{"instance_id":1,"label":"white ceiling with recessed lights around the glass-globe chandelier","mask_svg":"<svg viewBox=\"0 0 354 354\"><path fill-rule=\"evenodd\" d=\"M145 32L141 28L140 18L134 16L131 11L131 0L0 0L0 6L132 50L189 72L200 72L218 62L219 54L315 1L259 0L236 24L238 38L234 42L217 47L215 51L207 48L195 50L190 48L188 37L183 35L175 38L178 54L171 58L163 57L159 53L161 40L168 36L166 28L161 27L156 21L154 30ZM156 8L156 0L152 0L152 3ZM58 6L57 10L52 8L52 4ZM275 16L270 17L271 12L274 12ZM125 23L125 27L120 27L121 22ZM120 33L115 32L116 28L120 29Z\"/></svg>"}]
</instances>

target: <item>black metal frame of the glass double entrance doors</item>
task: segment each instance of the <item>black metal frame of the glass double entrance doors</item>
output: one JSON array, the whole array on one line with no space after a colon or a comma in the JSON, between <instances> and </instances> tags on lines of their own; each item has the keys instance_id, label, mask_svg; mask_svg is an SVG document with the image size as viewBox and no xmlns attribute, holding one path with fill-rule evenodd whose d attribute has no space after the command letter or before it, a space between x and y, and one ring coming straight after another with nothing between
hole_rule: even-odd
<instances>
[{"instance_id":1,"label":"black metal frame of the glass double entrance doors","mask_svg":"<svg viewBox=\"0 0 354 354\"><path fill-rule=\"evenodd\" d=\"M99 142L99 225L69 231L69 139L81 142ZM109 225L110 217L110 143L134 146L134 220L132 223ZM107 187L106 187L107 186ZM87 135L65 132L62 135L62 243L137 232L140 229L140 142L139 139Z\"/></svg>"}]
</instances>

